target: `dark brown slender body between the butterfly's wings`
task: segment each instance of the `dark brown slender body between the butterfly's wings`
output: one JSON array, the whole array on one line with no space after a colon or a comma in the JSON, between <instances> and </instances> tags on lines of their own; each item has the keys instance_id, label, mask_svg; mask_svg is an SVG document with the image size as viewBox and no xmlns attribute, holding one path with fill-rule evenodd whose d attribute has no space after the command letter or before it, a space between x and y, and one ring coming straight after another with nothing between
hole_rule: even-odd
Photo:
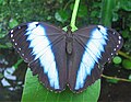
<instances>
[{"instance_id":1,"label":"dark brown slender body between the butterfly's wings","mask_svg":"<svg viewBox=\"0 0 131 102\"><path fill-rule=\"evenodd\" d=\"M72 50L73 50L73 34L72 34L71 30L68 30L68 32L67 32L66 50L69 55L71 55Z\"/></svg>"}]
</instances>

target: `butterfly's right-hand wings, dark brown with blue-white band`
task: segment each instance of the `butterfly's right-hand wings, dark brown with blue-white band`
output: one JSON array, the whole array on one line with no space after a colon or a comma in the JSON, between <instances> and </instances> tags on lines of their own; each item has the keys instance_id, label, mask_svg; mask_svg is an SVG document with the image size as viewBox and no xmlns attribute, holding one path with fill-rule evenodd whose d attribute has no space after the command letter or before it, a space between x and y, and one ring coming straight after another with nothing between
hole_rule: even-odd
<instances>
[{"instance_id":1,"label":"butterfly's right-hand wings, dark brown with blue-white band","mask_svg":"<svg viewBox=\"0 0 131 102\"><path fill-rule=\"evenodd\" d=\"M105 63L122 46L121 36L112 29L93 25L73 33L73 55L69 66L69 87L81 92L100 78Z\"/></svg>"}]
</instances>

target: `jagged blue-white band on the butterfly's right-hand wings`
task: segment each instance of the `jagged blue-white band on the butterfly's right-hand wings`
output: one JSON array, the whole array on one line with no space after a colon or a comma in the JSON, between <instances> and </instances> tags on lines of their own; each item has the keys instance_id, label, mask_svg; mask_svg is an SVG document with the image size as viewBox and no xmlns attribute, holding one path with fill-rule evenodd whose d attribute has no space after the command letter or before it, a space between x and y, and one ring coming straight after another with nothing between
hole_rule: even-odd
<instances>
[{"instance_id":1,"label":"jagged blue-white band on the butterfly's right-hand wings","mask_svg":"<svg viewBox=\"0 0 131 102\"><path fill-rule=\"evenodd\" d=\"M102 25L98 25L98 27L99 30L93 30L91 39L86 44L86 49L78 70L75 90L84 87L86 77L91 75L94 65L98 63L102 52L105 52L104 45L106 45L107 32Z\"/></svg>"}]
</instances>

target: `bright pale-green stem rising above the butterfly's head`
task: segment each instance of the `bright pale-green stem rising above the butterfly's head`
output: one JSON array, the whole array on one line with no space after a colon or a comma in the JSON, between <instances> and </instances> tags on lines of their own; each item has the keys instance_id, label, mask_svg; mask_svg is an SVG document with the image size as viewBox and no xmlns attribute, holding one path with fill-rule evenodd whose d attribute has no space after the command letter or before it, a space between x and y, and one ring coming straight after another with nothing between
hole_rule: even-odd
<instances>
[{"instance_id":1,"label":"bright pale-green stem rising above the butterfly's head","mask_svg":"<svg viewBox=\"0 0 131 102\"><path fill-rule=\"evenodd\" d=\"M80 3L80 0L75 0L73 13L72 13L72 18L71 18L71 23L70 23L70 26L72 27L72 32L78 30L78 27L75 26L75 20L76 20L79 3Z\"/></svg>"}]
</instances>

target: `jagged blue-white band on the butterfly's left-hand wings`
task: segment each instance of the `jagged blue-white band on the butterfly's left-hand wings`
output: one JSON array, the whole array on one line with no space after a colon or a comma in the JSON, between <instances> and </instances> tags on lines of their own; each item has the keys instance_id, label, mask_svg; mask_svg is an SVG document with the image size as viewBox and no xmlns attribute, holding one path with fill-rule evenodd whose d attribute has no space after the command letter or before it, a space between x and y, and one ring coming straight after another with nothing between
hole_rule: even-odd
<instances>
[{"instance_id":1,"label":"jagged blue-white band on the butterfly's left-hand wings","mask_svg":"<svg viewBox=\"0 0 131 102\"><path fill-rule=\"evenodd\" d=\"M50 87L59 89L59 77L57 71L57 66L55 61L55 56L51 50L51 45L44 26L37 25L38 22L29 23L26 30L28 35L27 41L31 41L29 47L33 48L32 54L36 55L35 59L39 58L40 65L44 68L44 73L47 75L49 79Z\"/></svg>"}]
</instances>

